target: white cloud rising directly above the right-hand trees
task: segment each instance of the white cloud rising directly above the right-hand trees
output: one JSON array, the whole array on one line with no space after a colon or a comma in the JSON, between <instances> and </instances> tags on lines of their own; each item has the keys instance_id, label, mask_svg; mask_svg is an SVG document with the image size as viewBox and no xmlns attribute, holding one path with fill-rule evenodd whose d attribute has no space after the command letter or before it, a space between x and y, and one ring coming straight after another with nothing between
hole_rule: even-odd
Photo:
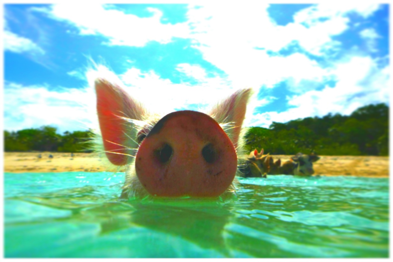
<instances>
[{"instance_id":1,"label":"white cloud rising directly above the right-hand trees","mask_svg":"<svg viewBox=\"0 0 393 262\"><path fill-rule=\"evenodd\" d=\"M371 57L350 57L336 64L334 87L310 90L290 97L285 112L257 114L250 123L268 127L272 122L287 122L328 113L351 114L358 107L371 103L389 103L389 66L378 69Z\"/></svg>"}]
</instances>

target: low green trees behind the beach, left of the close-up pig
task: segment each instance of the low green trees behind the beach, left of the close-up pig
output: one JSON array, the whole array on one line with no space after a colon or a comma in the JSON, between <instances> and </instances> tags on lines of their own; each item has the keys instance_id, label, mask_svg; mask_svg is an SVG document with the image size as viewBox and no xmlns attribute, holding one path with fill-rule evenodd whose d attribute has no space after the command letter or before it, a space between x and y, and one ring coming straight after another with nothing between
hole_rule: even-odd
<instances>
[{"instance_id":1,"label":"low green trees behind the beach, left of the close-up pig","mask_svg":"<svg viewBox=\"0 0 393 262\"><path fill-rule=\"evenodd\" d=\"M91 131L66 131L64 135L56 131L56 127L51 126L4 131L4 151L86 152L92 148Z\"/></svg>"}]
</instances>

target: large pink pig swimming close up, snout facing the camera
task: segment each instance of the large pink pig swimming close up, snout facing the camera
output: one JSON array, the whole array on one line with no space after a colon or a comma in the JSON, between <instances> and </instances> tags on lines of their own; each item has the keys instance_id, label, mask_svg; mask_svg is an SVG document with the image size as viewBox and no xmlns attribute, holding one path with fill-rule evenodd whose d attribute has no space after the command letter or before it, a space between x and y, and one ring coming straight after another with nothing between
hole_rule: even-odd
<instances>
[{"instance_id":1,"label":"large pink pig swimming close up, snout facing the camera","mask_svg":"<svg viewBox=\"0 0 393 262\"><path fill-rule=\"evenodd\" d=\"M235 192L243 120L252 89L240 89L208 113L151 113L121 83L94 81L101 146L126 166L120 198L218 197ZM96 139L97 140L97 139Z\"/></svg>"}]
</instances>

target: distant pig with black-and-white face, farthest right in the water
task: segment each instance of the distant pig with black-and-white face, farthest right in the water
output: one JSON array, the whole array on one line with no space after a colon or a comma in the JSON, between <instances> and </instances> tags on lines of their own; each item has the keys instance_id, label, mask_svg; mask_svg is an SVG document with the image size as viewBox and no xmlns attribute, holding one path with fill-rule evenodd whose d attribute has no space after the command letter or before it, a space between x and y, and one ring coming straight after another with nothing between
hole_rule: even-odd
<instances>
[{"instance_id":1,"label":"distant pig with black-and-white face, farthest right in the water","mask_svg":"<svg viewBox=\"0 0 393 262\"><path fill-rule=\"evenodd\" d=\"M310 176L314 174L312 163L319 159L320 157L314 153L310 155L297 153L295 156L291 157L290 160L284 162L283 165L278 168L277 172L283 175Z\"/></svg>"}]
</instances>

